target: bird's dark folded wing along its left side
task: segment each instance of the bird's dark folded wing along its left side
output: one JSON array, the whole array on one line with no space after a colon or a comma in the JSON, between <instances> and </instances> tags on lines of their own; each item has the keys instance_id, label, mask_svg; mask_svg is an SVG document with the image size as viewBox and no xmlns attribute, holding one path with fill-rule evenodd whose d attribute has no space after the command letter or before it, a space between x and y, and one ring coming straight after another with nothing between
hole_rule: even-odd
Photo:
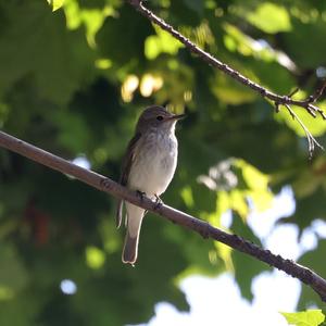
<instances>
[{"instance_id":1,"label":"bird's dark folded wing along its left side","mask_svg":"<svg viewBox=\"0 0 326 326\"><path fill-rule=\"evenodd\" d=\"M141 138L141 134L137 133L128 143L125 156L123 159L122 173L121 173L121 177L120 177L120 184L122 186L126 186L128 183L129 172L130 172L134 159L135 159L135 153L136 153L135 150L139 143L140 138ZM117 202L117 210L116 210L116 216L115 216L115 222L116 222L117 228L121 226L121 223L122 223L123 204L124 204L123 200L120 199Z\"/></svg>"}]
</instances>

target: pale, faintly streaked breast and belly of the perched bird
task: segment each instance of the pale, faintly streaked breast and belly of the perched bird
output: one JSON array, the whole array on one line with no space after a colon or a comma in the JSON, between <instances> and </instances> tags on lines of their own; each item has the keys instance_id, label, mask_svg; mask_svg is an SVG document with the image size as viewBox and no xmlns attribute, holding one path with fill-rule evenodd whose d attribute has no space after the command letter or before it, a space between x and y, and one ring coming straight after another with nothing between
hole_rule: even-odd
<instances>
[{"instance_id":1,"label":"pale, faintly streaked breast and belly of the perched bird","mask_svg":"<svg viewBox=\"0 0 326 326\"><path fill-rule=\"evenodd\" d=\"M174 131L148 133L137 147L128 186L160 196L171 183L177 163L177 139Z\"/></svg>"}]
</instances>

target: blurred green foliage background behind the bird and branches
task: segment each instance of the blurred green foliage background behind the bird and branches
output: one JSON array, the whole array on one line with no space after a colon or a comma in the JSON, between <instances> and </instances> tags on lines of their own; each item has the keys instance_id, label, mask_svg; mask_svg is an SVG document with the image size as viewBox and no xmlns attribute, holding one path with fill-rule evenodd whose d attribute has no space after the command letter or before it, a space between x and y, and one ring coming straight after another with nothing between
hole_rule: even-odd
<instances>
[{"instance_id":1,"label":"blurred green foliage background behind the bird and branches","mask_svg":"<svg viewBox=\"0 0 326 326\"><path fill-rule=\"evenodd\" d=\"M84 158L118 179L135 122L147 105L188 118L163 200L256 243L246 217L289 185L303 231L326 215L326 156L286 111L189 53L121 0L0 1L0 127L65 159ZM304 98L326 76L326 2L153 0L184 35L252 80ZM326 101L319 103L326 108ZM298 115L322 145L326 123ZM249 204L250 203L250 204ZM124 325L148 321L159 301L179 310L191 274L235 272L252 299L268 267L148 214L135 268L121 263L115 202L79 181L0 149L0 325ZM285 246L280 243L279 246ZM325 240L300 262L326 276ZM243 267L246 266L246 267ZM239 273L241 272L241 273ZM65 283L63 281L65 280ZM73 280L77 291L67 296ZM73 285L74 285L73 284ZM66 287L64 287L66 286ZM70 289L70 290L66 290ZM321 306L303 287L299 309Z\"/></svg>"}]
</instances>

